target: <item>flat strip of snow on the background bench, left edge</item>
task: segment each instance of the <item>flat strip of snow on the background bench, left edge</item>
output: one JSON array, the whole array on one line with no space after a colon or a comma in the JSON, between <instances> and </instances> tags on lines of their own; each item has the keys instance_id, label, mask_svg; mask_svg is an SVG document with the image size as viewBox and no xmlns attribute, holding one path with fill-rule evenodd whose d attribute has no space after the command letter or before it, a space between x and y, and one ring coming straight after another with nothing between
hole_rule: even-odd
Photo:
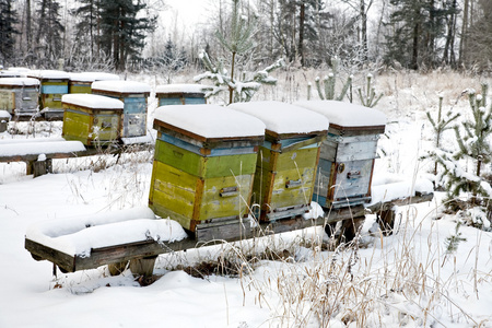
<instances>
[{"instance_id":1,"label":"flat strip of snow on the background bench, left edge","mask_svg":"<svg viewBox=\"0 0 492 328\"><path fill-rule=\"evenodd\" d=\"M0 143L0 156L73 153L81 151L85 151L85 147L80 141Z\"/></svg>"}]
</instances>

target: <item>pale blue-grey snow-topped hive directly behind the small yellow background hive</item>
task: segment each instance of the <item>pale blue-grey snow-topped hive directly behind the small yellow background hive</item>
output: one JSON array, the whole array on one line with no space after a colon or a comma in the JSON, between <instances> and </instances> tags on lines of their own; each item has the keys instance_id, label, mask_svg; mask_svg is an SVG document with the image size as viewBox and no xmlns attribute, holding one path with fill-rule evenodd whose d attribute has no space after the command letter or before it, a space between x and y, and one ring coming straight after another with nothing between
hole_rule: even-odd
<instances>
[{"instance_id":1,"label":"pale blue-grey snow-topped hive directly behind the small yellow background hive","mask_svg":"<svg viewBox=\"0 0 492 328\"><path fill-rule=\"evenodd\" d=\"M147 134L149 84L132 81L96 81L92 83L92 93L113 97L124 103L121 138Z\"/></svg>"}]
</instances>

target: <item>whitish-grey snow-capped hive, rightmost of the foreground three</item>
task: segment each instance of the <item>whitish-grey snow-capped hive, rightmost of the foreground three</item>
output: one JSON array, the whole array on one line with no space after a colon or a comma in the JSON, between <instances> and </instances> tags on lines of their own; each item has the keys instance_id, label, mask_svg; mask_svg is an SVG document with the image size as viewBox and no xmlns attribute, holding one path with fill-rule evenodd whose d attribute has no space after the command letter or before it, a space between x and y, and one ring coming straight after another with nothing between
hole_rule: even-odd
<instances>
[{"instance_id":1,"label":"whitish-grey snow-capped hive, rightmost of the foreground three","mask_svg":"<svg viewBox=\"0 0 492 328\"><path fill-rule=\"evenodd\" d=\"M328 138L323 142L313 200L325 208L362 204L371 200L377 140L386 116L376 109L335 101L298 102L326 116Z\"/></svg>"}]
</instances>

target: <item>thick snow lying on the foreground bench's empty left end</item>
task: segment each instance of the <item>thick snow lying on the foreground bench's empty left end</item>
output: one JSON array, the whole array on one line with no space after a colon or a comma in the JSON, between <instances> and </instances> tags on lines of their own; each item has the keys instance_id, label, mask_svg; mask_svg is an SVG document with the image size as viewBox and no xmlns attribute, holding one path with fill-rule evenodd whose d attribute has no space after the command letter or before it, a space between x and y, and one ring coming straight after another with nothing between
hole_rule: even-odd
<instances>
[{"instance_id":1,"label":"thick snow lying on the foreground bench's empty left end","mask_svg":"<svg viewBox=\"0 0 492 328\"><path fill-rule=\"evenodd\" d=\"M91 248L122 245L152 238L178 242L187 235L173 220L156 220L149 208L98 213L92 216L43 221L27 229L26 238L70 256L89 257Z\"/></svg>"}]
</instances>

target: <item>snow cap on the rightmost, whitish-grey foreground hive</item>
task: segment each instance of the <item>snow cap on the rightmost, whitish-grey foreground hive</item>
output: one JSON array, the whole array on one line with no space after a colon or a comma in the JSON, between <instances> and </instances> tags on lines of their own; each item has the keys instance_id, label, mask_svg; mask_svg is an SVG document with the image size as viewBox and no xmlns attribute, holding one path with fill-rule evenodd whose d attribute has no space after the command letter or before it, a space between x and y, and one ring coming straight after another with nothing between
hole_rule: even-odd
<instances>
[{"instance_id":1,"label":"snow cap on the rightmost, whitish-grey foreground hive","mask_svg":"<svg viewBox=\"0 0 492 328\"><path fill-rule=\"evenodd\" d=\"M385 126L386 115L374 108L336 101L301 101L294 105L326 116L330 124L341 127Z\"/></svg>"}]
</instances>

